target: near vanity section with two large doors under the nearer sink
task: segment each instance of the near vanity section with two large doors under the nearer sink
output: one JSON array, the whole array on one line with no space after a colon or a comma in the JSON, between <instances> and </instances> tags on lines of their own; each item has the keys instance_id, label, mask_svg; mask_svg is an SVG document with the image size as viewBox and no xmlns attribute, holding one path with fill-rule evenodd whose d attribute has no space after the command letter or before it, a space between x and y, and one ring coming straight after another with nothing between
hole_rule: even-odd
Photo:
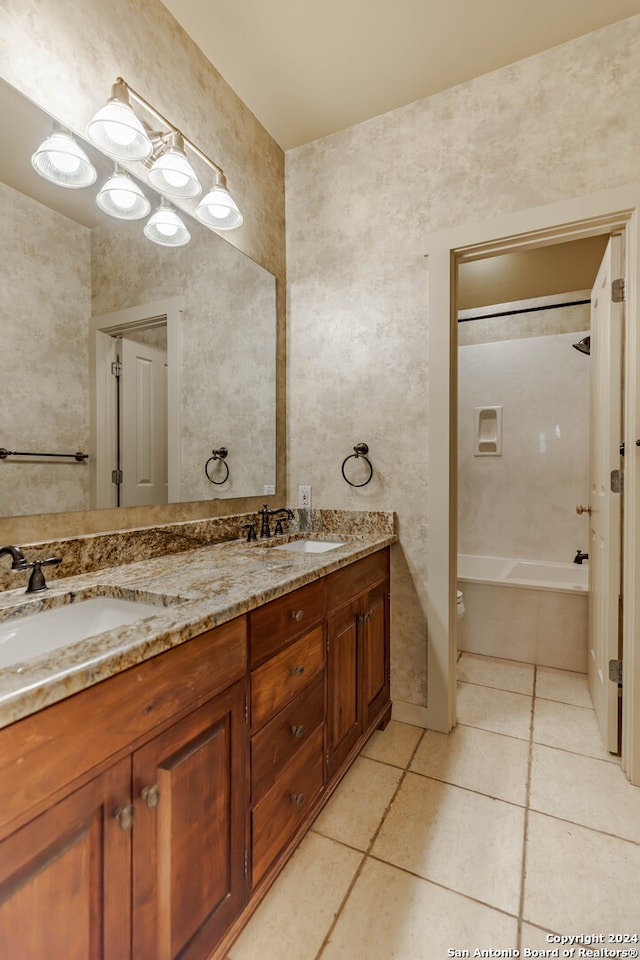
<instances>
[{"instance_id":1,"label":"near vanity section with two large doors under the nearer sink","mask_svg":"<svg viewBox=\"0 0 640 960\"><path fill-rule=\"evenodd\" d=\"M239 618L0 730L2 956L209 956L246 899L245 703Z\"/></svg>"}]
</instances>

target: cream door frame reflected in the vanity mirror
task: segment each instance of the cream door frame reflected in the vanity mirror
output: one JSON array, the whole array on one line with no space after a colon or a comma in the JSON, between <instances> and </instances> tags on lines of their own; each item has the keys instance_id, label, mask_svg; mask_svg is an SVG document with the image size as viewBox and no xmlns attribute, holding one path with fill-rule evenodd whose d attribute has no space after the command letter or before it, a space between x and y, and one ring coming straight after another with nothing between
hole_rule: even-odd
<instances>
[{"instance_id":1,"label":"cream door frame reflected in the vanity mirror","mask_svg":"<svg viewBox=\"0 0 640 960\"><path fill-rule=\"evenodd\" d=\"M98 396L108 390L104 371L109 366L111 345L109 341L117 333L126 333L136 326L144 326L154 319L166 318L167 324L167 450L168 450L168 502L180 501L181 463L181 380L182 380L182 314L183 297L167 297L151 303L128 307L92 317L89 321L89 384L90 384L90 436L95 449L91 450L93 469L91 473L91 505L107 506L112 496L110 478L96 464L113 461L113 411L107 411L101 420L98 417ZM115 502L110 506L115 506Z\"/></svg>"}]
</instances>

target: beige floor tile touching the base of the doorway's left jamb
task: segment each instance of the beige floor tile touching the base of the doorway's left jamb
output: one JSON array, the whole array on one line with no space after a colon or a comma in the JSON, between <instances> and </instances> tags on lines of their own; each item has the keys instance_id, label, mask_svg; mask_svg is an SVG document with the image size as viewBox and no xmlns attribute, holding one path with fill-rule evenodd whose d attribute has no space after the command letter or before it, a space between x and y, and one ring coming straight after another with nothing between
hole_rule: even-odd
<instances>
[{"instance_id":1,"label":"beige floor tile touching the base of the doorway's left jamb","mask_svg":"<svg viewBox=\"0 0 640 960\"><path fill-rule=\"evenodd\" d=\"M523 805L527 796L529 744L479 727L458 726L449 734L427 730L410 769Z\"/></svg>"}]
</instances>

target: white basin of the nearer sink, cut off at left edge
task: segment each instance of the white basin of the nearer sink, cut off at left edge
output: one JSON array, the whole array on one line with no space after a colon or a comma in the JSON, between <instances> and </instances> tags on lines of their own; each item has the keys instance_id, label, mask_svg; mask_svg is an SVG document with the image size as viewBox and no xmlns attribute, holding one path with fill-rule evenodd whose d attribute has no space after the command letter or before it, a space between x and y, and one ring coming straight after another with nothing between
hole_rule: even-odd
<instances>
[{"instance_id":1,"label":"white basin of the nearer sink, cut off at left edge","mask_svg":"<svg viewBox=\"0 0 640 960\"><path fill-rule=\"evenodd\" d=\"M0 621L0 669L69 643L160 613L164 608L120 597L89 597Z\"/></svg>"}]
</instances>

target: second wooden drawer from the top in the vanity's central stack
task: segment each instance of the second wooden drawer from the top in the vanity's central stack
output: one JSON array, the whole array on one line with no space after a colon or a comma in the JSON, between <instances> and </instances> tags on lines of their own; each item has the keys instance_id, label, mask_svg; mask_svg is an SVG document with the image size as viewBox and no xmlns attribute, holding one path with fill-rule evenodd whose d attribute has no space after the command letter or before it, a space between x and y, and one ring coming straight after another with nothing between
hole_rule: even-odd
<instances>
[{"instance_id":1,"label":"second wooden drawer from the top in the vanity's central stack","mask_svg":"<svg viewBox=\"0 0 640 960\"><path fill-rule=\"evenodd\" d=\"M281 710L324 666L320 624L251 673L251 726L254 730Z\"/></svg>"}]
</instances>

